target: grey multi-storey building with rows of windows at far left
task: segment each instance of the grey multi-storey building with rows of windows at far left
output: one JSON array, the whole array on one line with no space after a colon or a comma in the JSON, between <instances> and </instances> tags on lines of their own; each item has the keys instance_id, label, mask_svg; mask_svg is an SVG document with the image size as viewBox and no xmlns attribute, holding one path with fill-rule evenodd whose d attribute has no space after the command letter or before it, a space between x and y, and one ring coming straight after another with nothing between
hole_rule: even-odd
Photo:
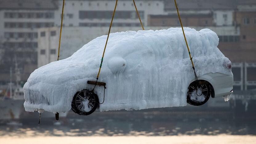
<instances>
[{"instance_id":1,"label":"grey multi-storey building with rows of windows at far left","mask_svg":"<svg viewBox=\"0 0 256 144\"><path fill-rule=\"evenodd\" d=\"M10 81L15 63L27 80L37 64L37 29L54 26L57 9L51 0L0 0L0 85Z\"/></svg>"}]
</instances>

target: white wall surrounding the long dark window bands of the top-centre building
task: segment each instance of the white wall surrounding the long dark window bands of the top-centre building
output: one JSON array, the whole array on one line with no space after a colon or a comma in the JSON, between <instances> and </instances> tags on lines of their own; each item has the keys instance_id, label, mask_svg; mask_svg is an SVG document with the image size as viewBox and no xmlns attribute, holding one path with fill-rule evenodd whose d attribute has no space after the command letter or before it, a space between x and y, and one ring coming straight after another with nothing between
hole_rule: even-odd
<instances>
[{"instance_id":1,"label":"white wall surrounding the long dark window bands of the top-centre building","mask_svg":"<svg viewBox=\"0 0 256 144\"><path fill-rule=\"evenodd\" d=\"M79 22L108 22L110 23L111 19L79 19L79 11L80 10L114 10L115 0L94 0L94 1L81 1L81 0L69 0L65 2L64 6L64 20L63 24L65 26L69 26L73 24L73 26L79 26ZM73 5L74 3L74 5ZM90 3L90 5L89 5ZM106 5L107 3L107 5ZM82 5L81 5L82 4ZM58 0L59 9L55 11L55 23L56 26L60 26L61 21L61 13L62 13L62 0ZM164 2L162 0L136 0L136 6L138 11L144 11L144 18L142 22L145 26L147 26L147 15L149 14L164 14ZM135 8L132 0L123 0L118 1L118 6L116 11L134 11ZM67 14L73 14L73 18L68 18ZM115 19L113 22L136 22L139 23L137 18L135 19Z\"/></svg>"}]
</instances>

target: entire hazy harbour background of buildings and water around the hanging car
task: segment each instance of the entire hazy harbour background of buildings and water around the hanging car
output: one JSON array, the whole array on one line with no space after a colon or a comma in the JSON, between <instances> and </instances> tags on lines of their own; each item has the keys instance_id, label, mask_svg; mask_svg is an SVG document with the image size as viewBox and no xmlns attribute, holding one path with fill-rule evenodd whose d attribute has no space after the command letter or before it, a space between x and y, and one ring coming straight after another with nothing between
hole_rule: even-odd
<instances>
[{"instance_id":1,"label":"entire hazy harbour background of buildings and water around the hanging car","mask_svg":"<svg viewBox=\"0 0 256 144\"><path fill-rule=\"evenodd\" d=\"M145 30L180 27L174 1L135 2ZM89 116L69 111L59 121L43 113L38 126L38 112L24 110L22 87L31 72L57 60L62 0L0 0L0 143L255 143L256 1L177 3L183 26L218 34L218 48L232 62L230 101L210 98L198 107L96 111ZM65 1L60 59L107 34L114 4ZM118 0L111 32L126 30L142 28L133 1Z\"/></svg>"}]
</instances>

